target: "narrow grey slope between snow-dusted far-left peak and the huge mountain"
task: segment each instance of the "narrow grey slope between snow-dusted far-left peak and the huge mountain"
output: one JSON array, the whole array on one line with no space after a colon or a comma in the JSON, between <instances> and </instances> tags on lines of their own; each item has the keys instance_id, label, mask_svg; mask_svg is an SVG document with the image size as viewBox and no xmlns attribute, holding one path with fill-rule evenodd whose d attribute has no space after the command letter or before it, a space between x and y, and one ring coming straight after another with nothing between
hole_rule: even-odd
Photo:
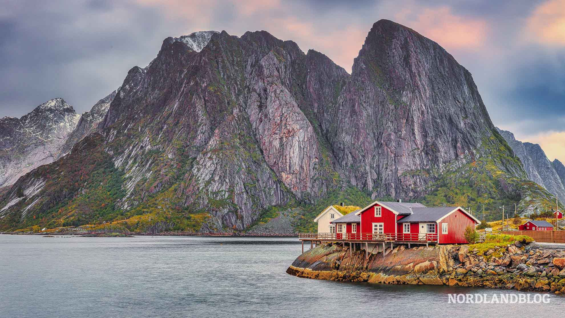
<instances>
[{"instance_id":1,"label":"narrow grey slope between snow-dusted far-left peak and the huge mountain","mask_svg":"<svg viewBox=\"0 0 565 318\"><path fill-rule=\"evenodd\" d=\"M85 111L80 115L79 122L76 124L75 129L68 135L63 148L57 155L57 159L68 154L72 146L81 141L82 138L98 130L98 124L106 116L106 112L108 108L110 108L110 103L114 100L116 93L118 93L118 89L95 103L90 111Z\"/></svg>"}]
</instances>

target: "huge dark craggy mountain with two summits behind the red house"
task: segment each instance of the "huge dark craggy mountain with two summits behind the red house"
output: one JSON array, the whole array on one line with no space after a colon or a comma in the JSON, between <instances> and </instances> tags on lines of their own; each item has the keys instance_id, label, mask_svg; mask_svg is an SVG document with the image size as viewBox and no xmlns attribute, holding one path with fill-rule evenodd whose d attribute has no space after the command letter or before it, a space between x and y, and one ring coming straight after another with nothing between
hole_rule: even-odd
<instances>
[{"instance_id":1,"label":"huge dark craggy mountain with two summits behind the red house","mask_svg":"<svg viewBox=\"0 0 565 318\"><path fill-rule=\"evenodd\" d=\"M166 38L149 66L130 69L97 132L5 191L0 229L232 233L284 210L309 230L336 198L491 212L548 197L470 72L380 20L351 75L265 31Z\"/></svg>"}]
</instances>

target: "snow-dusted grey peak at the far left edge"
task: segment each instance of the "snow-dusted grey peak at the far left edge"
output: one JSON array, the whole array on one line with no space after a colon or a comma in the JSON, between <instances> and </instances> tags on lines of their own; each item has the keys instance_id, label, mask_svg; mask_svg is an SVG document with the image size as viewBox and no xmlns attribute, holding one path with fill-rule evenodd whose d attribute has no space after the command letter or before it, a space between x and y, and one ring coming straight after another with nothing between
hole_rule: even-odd
<instances>
[{"instance_id":1,"label":"snow-dusted grey peak at the far left edge","mask_svg":"<svg viewBox=\"0 0 565 318\"><path fill-rule=\"evenodd\" d=\"M20 119L0 119L0 186L53 162L79 117L62 98L54 98Z\"/></svg>"}]
</instances>

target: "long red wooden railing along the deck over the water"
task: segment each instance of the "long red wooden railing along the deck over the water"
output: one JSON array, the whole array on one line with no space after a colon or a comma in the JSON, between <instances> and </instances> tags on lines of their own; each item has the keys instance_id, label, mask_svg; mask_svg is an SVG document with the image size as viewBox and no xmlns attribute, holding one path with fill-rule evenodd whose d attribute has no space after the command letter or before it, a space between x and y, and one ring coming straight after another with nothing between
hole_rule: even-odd
<instances>
[{"instance_id":1,"label":"long red wooden railing along the deck over the water","mask_svg":"<svg viewBox=\"0 0 565 318\"><path fill-rule=\"evenodd\" d=\"M407 241L437 242L437 234L433 233L298 233L298 238L320 239L325 241Z\"/></svg>"}]
</instances>

